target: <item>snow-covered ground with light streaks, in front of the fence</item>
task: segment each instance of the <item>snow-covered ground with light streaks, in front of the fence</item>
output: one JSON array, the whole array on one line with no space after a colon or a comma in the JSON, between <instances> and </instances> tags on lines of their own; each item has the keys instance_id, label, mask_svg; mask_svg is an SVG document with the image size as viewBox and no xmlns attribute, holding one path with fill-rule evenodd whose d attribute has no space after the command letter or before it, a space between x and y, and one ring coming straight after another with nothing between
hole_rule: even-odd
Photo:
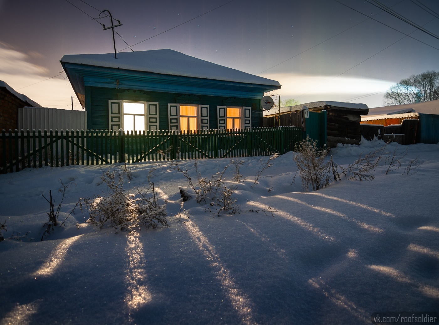
<instances>
[{"instance_id":1,"label":"snow-covered ground with light streaks, in front of the fence","mask_svg":"<svg viewBox=\"0 0 439 325\"><path fill-rule=\"evenodd\" d=\"M381 145L331 154L347 164ZM0 324L370 324L377 311L438 312L439 145L399 149L406 147L402 167L388 175L380 166L371 182L343 180L308 193L300 179L290 185L292 153L254 187L268 157L240 158L241 213L220 217L194 199L176 217L184 176L170 162L133 164L125 182L132 192L157 168L152 181L160 203L166 199L169 228L114 233L86 224L87 211L76 208L66 228L42 242L49 211L42 195L51 189L57 205L61 181L70 184L62 221L79 198L106 193L103 171L117 166L0 175L5 238L31 232L0 243ZM402 175L416 157L417 172ZM198 167L212 176L229 162ZM179 166L195 178L194 161ZM268 207L277 212L249 211Z\"/></svg>"}]
</instances>

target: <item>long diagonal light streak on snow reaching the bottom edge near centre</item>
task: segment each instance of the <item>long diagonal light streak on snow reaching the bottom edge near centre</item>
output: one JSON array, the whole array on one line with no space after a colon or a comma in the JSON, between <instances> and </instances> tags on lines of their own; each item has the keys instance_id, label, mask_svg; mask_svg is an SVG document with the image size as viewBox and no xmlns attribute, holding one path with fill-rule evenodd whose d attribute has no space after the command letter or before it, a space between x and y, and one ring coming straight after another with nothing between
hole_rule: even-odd
<instances>
[{"instance_id":1,"label":"long diagonal light streak on snow reaching the bottom edge near centre","mask_svg":"<svg viewBox=\"0 0 439 325\"><path fill-rule=\"evenodd\" d=\"M230 275L230 271L221 263L219 255L216 254L215 247L209 243L209 240L191 220L188 220L183 224L192 239L197 243L198 248L210 262L210 266L215 269L216 276L221 281L222 287L225 289L227 296L229 296L233 307L236 309L239 316L241 316L242 323L247 325L257 324L252 320L251 300L242 293L241 289L238 288Z\"/></svg>"}]
</instances>

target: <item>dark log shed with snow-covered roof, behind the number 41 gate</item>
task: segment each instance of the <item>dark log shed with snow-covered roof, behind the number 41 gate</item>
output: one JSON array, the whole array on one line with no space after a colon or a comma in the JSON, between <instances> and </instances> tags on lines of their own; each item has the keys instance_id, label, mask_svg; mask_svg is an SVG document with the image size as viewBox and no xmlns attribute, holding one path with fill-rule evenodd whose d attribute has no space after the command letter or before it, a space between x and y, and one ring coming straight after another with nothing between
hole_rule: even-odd
<instances>
[{"instance_id":1,"label":"dark log shed with snow-covered roof, behind the number 41 gate","mask_svg":"<svg viewBox=\"0 0 439 325\"><path fill-rule=\"evenodd\" d=\"M289 107L281 107L280 114L275 111L265 111L264 121L267 126L278 123L279 115L281 117L281 126L295 125L298 120L294 115L302 110L302 107L308 107L310 112L327 112L327 142L328 147L335 147L337 143L343 144L360 144L360 121L361 115L366 115L369 108L366 104L353 104L332 101L321 101L305 103ZM295 125L300 126L300 125Z\"/></svg>"}]
</instances>

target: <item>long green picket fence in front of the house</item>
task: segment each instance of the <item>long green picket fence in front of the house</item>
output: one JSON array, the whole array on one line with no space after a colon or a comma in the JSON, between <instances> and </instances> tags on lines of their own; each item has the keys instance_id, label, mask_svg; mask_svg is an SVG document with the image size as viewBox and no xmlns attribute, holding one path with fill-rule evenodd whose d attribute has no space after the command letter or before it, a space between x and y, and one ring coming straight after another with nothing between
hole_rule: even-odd
<instances>
[{"instance_id":1,"label":"long green picket fence in front of the house","mask_svg":"<svg viewBox=\"0 0 439 325\"><path fill-rule=\"evenodd\" d=\"M267 156L294 150L302 138L302 129L297 127L141 133L3 130L0 172L43 166Z\"/></svg>"}]
</instances>

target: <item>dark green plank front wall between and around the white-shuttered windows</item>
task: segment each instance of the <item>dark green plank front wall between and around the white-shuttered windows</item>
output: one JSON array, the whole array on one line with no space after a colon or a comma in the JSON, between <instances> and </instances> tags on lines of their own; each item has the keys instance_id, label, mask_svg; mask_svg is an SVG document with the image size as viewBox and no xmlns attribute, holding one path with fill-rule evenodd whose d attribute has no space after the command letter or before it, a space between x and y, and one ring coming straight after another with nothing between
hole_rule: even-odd
<instances>
[{"instance_id":1,"label":"dark green plank front wall between and around the white-shuttered windows","mask_svg":"<svg viewBox=\"0 0 439 325\"><path fill-rule=\"evenodd\" d=\"M181 93L161 93L151 91L136 91L135 95L130 98L126 94L126 89L111 89L101 87L86 86L86 111L87 111L87 128L89 130L106 130L108 129L108 100L136 100L145 102L158 102L159 109L159 129L167 130L168 125L168 104L185 104L176 101L176 97L183 96ZM122 99L123 97L123 99ZM221 96L197 96L199 100L193 104L209 105L209 124L210 129L218 128L217 106L224 105L228 97ZM252 127L261 127L262 111L260 108L259 98L234 98L238 103L233 106L252 107ZM232 106L230 105L230 106Z\"/></svg>"}]
</instances>

